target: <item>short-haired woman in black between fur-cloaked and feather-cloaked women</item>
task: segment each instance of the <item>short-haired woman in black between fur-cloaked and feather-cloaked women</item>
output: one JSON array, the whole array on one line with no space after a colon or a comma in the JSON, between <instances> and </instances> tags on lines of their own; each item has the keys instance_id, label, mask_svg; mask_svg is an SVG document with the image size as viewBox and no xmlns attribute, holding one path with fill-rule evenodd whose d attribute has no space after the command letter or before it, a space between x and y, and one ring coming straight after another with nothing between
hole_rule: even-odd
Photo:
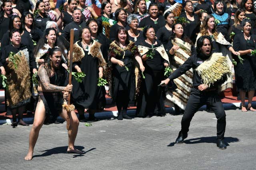
<instances>
[{"instance_id":1,"label":"short-haired woman in black between fur-cloaked and feather-cloaked women","mask_svg":"<svg viewBox=\"0 0 256 170\"><path fill-rule=\"evenodd\" d=\"M90 18L86 22L86 26L90 29L91 38L99 43L101 43L101 52L103 58L107 61L108 60L108 48L110 45L110 40L106 38L102 33L99 32L98 22L94 18Z\"/></svg>"}]
</instances>

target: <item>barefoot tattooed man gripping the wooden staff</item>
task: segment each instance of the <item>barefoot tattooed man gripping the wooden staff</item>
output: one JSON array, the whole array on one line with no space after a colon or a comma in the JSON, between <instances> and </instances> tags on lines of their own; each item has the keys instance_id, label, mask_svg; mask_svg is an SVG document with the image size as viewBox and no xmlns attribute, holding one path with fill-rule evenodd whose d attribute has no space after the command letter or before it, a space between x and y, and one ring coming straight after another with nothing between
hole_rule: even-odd
<instances>
[{"instance_id":1,"label":"barefoot tattooed man gripping the wooden staff","mask_svg":"<svg viewBox=\"0 0 256 170\"><path fill-rule=\"evenodd\" d=\"M48 116L46 113L58 113L63 119L67 119L67 112L62 108L62 104L63 100L68 97L68 92L72 91L72 85L64 86L68 83L65 79L67 76L66 70L61 65L62 54L60 49L56 47L50 49L48 56L47 63L40 65L38 69L39 100L36 106L33 127L29 134L29 148L25 160L31 160L33 157L33 150L39 131L44 119ZM82 151L74 148L79 121L74 111L71 111L70 115L67 152L82 154Z\"/></svg>"}]
</instances>

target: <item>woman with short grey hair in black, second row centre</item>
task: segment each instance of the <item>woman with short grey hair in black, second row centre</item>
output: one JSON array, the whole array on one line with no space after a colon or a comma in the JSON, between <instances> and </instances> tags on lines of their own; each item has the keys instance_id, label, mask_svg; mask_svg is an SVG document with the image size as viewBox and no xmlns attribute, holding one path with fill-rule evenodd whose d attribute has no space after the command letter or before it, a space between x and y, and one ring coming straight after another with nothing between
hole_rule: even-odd
<instances>
[{"instance_id":1,"label":"woman with short grey hair in black, second row centre","mask_svg":"<svg viewBox=\"0 0 256 170\"><path fill-rule=\"evenodd\" d=\"M131 14L127 17L127 24L130 27L128 30L128 39L132 42L140 41L143 38L143 32L137 30L138 28L138 18L135 14Z\"/></svg>"}]
</instances>

